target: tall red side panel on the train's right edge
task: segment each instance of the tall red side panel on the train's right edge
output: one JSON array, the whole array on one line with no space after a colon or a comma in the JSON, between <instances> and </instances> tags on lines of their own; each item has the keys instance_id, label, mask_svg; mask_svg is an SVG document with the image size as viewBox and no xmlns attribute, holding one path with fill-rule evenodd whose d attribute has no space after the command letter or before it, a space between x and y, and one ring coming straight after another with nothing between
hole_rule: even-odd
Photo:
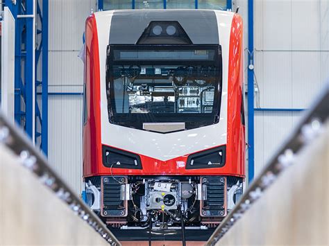
<instances>
[{"instance_id":1,"label":"tall red side panel on the train's right edge","mask_svg":"<svg viewBox=\"0 0 329 246\"><path fill-rule=\"evenodd\" d=\"M242 125L242 35L243 23L234 15L230 33L230 55L228 60L228 136L227 163L236 166L237 173L245 174L245 139Z\"/></svg>"}]
</instances>

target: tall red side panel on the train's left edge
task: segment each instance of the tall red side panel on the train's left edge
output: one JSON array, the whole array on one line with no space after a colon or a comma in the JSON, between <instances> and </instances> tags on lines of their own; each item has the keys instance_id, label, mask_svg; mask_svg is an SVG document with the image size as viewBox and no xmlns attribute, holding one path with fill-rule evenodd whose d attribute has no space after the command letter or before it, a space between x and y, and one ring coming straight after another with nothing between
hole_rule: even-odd
<instances>
[{"instance_id":1,"label":"tall red side panel on the train's left edge","mask_svg":"<svg viewBox=\"0 0 329 246\"><path fill-rule=\"evenodd\" d=\"M94 15L85 24L85 99L87 121L83 128L83 174L98 173L101 164L101 108L99 95L99 42Z\"/></svg>"}]
</instances>

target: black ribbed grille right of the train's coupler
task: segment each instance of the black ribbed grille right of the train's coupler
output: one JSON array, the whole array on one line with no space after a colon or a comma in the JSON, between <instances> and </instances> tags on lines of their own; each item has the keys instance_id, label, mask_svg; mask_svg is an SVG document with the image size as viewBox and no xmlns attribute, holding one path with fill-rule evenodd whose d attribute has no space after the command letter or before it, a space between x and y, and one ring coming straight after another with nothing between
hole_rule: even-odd
<instances>
[{"instance_id":1,"label":"black ribbed grille right of the train's coupler","mask_svg":"<svg viewBox=\"0 0 329 246\"><path fill-rule=\"evenodd\" d=\"M226 216L226 177L203 177L206 200L202 204L203 216Z\"/></svg>"}]
</instances>

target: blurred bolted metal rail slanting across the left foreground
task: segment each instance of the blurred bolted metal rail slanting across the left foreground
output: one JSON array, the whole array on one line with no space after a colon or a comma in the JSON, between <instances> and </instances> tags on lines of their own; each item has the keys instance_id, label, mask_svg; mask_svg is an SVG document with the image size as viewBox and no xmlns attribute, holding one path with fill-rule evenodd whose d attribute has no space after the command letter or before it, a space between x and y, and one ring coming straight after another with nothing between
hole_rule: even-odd
<instances>
[{"instance_id":1,"label":"blurred bolted metal rail slanting across the left foreground","mask_svg":"<svg viewBox=\"0 0 329 246\"><path fill-rule=\"evenodd\" d=\"M0 144L3 144L19 157L22 166L37 175L40 182L49 187L56 196L67 203L71 210L110 245L121 245L106 225L96 214L76 195L60 176L49 166L42 153L33 147L24 132L10 123L0 113Z\"/></svg>"}]
</instances>

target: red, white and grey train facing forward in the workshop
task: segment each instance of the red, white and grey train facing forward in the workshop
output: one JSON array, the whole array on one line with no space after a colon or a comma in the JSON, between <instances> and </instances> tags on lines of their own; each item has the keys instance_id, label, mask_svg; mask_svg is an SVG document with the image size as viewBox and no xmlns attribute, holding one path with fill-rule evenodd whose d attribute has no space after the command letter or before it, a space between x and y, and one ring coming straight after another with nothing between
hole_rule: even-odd
<instances>
[{"instance_id":1,"label":"red, white and grey train facing forward in the workshop","mask_svg":"<svg viewBox=\"0 0 329 246\"><path fill-rule=\"evenodd\" d=\"M85 202L118 237L208 238L245 180L243 22L109 10L85 22ZM142 239L141 239L142 240Z\"/></svg>"}]
</instances>

